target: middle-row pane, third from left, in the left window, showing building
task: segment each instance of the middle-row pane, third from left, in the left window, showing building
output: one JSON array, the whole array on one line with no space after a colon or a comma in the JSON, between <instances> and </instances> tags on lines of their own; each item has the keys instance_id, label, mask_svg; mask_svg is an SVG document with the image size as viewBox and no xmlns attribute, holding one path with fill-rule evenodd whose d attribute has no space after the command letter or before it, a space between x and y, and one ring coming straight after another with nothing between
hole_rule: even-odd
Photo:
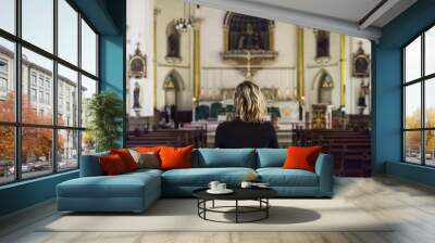
<instances>
[{"instance_id":1,"label":"middle-row pane, third from left, in the left window, showing building","mask_svg":"<svg viewBox=\"0 0 435 243\"><path fill-rule=\"evenodd\" d=\"M58 125L78 127L78 75L58 65Z\"/></svg>"}]
</instances>

